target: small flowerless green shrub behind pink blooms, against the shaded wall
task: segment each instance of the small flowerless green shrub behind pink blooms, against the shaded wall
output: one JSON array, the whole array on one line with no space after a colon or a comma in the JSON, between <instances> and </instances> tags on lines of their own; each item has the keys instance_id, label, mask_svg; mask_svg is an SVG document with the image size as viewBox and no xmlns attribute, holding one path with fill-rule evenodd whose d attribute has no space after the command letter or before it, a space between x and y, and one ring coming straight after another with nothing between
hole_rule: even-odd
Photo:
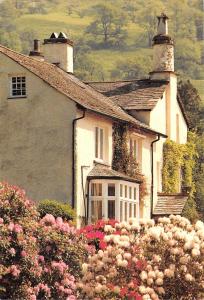
<instances>
[{"instance_id":1,"label":"small flowerless green shrub behind pink blooms, against the shaded wall","mask_svg":"<svg viewBox=\"0 0 204 300\"><path fill-rule=\"evenodd\" d=\"M38 205L38 211L41 218L46 214L51 214L55 218L61 217L63 220L74 220L76 217L75 211L69 204L60 203L56 200L42 200Z\"/></svg>"}]
</instances>

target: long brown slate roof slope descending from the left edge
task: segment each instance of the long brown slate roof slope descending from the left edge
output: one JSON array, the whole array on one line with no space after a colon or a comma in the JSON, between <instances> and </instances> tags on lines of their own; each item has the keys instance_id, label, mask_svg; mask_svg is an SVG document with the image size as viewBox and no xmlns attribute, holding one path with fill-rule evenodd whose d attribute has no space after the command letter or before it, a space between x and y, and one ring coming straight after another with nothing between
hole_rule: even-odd
<instances>
[{"instance_id":1,"label":"long brown slate roof slope descending from the left edge","mask_svg":"<svg viewBox=\"0 0 204 300\"><path fill-rule=\"evenodd\" d=\"M0 53L3 53L16 61L18 64L44 80L51 87L80 104L82 107L111 118L130 122L136 127L146 129L149 132L157 133L150 129L148 125L141 123L128 115L128 113L114 103L112 99L103 96L91 86L77 79L73 74L68 74L53 64L17 53L1 45Z\"/></svg>"}]
</instances>

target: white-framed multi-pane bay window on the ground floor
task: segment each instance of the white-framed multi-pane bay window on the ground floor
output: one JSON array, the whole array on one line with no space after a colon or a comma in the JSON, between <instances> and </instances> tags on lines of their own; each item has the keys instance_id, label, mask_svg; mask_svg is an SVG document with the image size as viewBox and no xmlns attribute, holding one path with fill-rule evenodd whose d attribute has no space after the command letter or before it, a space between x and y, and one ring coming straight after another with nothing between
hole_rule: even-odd
<instances>
[{"instance_id":1,"label":"white-framed multi-pane bay window on the ground floor","mask_svg":"<svg viewBox=\"0 0 204 300\"><path fill-rule=\"evenodd\" d=\"M111 179L91 181L89 221L139 219L139 184Z\"/></svg>"}]
</instances>

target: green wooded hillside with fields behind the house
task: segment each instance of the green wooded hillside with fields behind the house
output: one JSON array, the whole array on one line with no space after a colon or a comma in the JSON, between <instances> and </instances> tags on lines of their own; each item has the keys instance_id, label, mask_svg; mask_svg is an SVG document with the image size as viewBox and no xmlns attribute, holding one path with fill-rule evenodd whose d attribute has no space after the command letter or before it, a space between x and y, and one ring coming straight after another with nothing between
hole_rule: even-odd
<instances>
[{"instance_id":1,"label":"green wooded hillside with fields behind the house","mask_svg":"<svg viewBox=\"0 0 204 300\"><path fill-rule=\"evenodd\" d=\"M53 31L64 31L75 42L75 72L85 80L147 76L156 15L165 11L176 43L176 70L182 79L194 79L203 93L200 0L150 0L145 7L142 0L6 0L0 5L0 43L28 53L34 38L43 40ZM110 31L106 43L100 24L104 19Z\"/></svg>"}]
</instances>

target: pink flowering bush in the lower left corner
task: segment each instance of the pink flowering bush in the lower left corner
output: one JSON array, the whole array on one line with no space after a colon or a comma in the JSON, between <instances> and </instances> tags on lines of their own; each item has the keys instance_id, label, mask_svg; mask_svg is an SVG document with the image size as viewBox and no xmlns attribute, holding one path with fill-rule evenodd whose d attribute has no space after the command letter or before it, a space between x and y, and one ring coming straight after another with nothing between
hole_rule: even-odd
<instances>
[{"instance_id":1,"label":"pink flowering bush in the lower left corner","mask_svg":"<svg viewBox=\"0 0 204 300\"><path fill-rule=\"evenodd\" d=\"M0 184L0 298L76 299L86 250L61 218L39 219L25 192Z\"/></svg>"}]
</instances>

